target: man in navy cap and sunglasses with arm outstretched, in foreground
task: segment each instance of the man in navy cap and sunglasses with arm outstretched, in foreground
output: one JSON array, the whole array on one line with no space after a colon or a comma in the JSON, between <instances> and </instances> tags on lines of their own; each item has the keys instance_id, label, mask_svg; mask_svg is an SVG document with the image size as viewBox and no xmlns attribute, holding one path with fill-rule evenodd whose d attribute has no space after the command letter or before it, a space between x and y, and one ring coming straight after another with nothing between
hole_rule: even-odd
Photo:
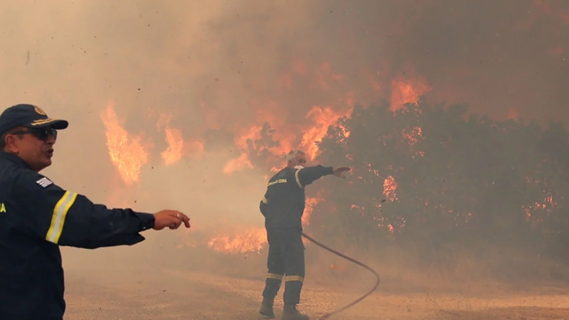
<instances>
[{"instance_id":1,"label":"man in navy cap and sunglasses with arm outstretched, in foreground","mask_svg":"<svg viewBox=\"0 0 569 320\"><path fill-rule=\"evenodd\" d=\"M60 245L133 245L146 229L189 228L182 212L109 209L64 190L39 171L51 165L57 130L68 122L34 105L0 115L0 319L62 320Z\"/></svg>"}]
</instances>

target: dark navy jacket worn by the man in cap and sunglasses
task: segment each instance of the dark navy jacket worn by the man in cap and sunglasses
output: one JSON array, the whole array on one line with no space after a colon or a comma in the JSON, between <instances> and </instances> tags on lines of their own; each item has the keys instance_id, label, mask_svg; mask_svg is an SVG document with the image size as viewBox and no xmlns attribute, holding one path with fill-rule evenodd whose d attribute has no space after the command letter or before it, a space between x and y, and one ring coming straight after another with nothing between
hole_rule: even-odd
<instances>
[{"instance_id":1,"label":"dark navy jacket worn by the man in cap and sunglasses","mask_svg":"<svg viewBox=\"0 0 569 320\"><path fill-rule=\"evenodd\" d=\"M0 319L63 319L59 246L132 245L153 225L151 214L94 204L0 151Z\"/></svg>"}]
</instances>

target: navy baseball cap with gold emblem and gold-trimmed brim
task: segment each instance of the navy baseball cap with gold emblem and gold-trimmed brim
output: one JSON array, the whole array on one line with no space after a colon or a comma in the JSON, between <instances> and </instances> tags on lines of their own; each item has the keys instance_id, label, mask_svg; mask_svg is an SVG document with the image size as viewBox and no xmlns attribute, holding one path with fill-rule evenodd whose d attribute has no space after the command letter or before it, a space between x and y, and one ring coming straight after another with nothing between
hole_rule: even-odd
<instances>
[{"instance_id":1,"label":"navy baseball cap with gold emblem and gold-trimmed brim","mask_svg":"<svg viewBox=\"0 0 569 320\"><path fill-rule=\"evenodd\" d=\"M68 125L67 120L50 118L44 110L31 104L13 105L0 114L0 134L18 126L25 126L28 129L51 126L53 129L61 130Z\"/></svg>"}]
</instances>

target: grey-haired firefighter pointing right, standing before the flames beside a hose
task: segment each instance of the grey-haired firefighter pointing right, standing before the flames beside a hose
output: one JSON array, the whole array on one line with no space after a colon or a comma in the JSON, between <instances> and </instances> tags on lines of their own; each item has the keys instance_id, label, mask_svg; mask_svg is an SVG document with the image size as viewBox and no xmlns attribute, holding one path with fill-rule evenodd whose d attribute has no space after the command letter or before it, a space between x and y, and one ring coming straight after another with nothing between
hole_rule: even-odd
<instances>
[{"instance_id":1,"label":"grey-haired firefighter pointing right, standing before the flames beside a hose","mask_svg":"<svg viewBox=\"0 0 569 320\"><path fill-rule=\"evenodd\" d=\"M302 215L305 207L304 187L324 175L342 177L349 167L304 167L306 155L292 150L287 154L287 167L275 174L267 184L265 196L259 204L265 216L269 256L267 278L263 290L260 318L272 319L274 299L284 277L283 320L308 320L296 305L304 281L304 244L302 243Z\"/></svg>"}]
</instances>

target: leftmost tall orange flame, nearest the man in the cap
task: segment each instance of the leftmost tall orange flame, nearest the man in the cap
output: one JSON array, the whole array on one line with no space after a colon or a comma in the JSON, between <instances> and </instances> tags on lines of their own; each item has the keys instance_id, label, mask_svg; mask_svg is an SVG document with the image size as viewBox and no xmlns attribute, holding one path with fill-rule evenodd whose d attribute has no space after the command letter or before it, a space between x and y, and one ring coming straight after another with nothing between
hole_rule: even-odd
<instances>
[{"instance_id":1,"label":"leftmost tall orange flame, nearest the man in the cap","mask_svg":"<svg viewBox=\"0 0 569 320\"><path fill-rule=\"evenodd\" d=\"M148 162L148 150L142 143L142 137L130 136L114 112L114 104L110 102L101 111L101 120L105 124L106 145L110 159L118 170L123 182L130 186L139 179L142 166Z\"/></svg>"}]
</instances>

